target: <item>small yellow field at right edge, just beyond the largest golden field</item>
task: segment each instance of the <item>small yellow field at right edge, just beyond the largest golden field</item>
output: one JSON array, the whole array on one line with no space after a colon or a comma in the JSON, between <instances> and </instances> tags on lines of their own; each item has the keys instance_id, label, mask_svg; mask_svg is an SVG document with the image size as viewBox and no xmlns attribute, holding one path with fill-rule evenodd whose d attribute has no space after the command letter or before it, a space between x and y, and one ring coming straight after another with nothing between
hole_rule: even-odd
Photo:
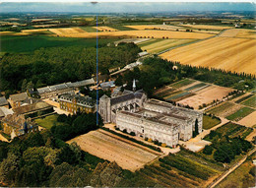
<instances>
[{"instance_id":1,"label":"small yellow field at right edge, just beyond the largest golden field","mask_svg":"<svg viewBox=\"0 0 256 188\"><path fill-rule=\"evenodd\" d=\"M233 29L233 30L224 31L220 36L244 37L244 38L256 39L256 31L255 30L245 30L245 29Z\"/></svg>"}]
</instances>

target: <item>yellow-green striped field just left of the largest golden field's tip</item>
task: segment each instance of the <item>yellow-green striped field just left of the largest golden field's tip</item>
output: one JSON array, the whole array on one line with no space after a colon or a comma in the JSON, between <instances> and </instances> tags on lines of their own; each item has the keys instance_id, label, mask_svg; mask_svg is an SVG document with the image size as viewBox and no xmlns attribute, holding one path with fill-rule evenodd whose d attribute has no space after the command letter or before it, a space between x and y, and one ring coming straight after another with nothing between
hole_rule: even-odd
<instances>
[{"instance_id":1,"label":"yellow-green striped field just left of the largest golden field's tip","mask_svg":"<svg viewBox=\"0 0 256 188\"><path fill-rule=\"evenodd\" d=\"M159 42L155 42L141 47L142 50L147 50L149 53L160 52L164 49L174 47L183 43L195 41L196 39L163 39Z\"/></svg>"}]
</instances>

